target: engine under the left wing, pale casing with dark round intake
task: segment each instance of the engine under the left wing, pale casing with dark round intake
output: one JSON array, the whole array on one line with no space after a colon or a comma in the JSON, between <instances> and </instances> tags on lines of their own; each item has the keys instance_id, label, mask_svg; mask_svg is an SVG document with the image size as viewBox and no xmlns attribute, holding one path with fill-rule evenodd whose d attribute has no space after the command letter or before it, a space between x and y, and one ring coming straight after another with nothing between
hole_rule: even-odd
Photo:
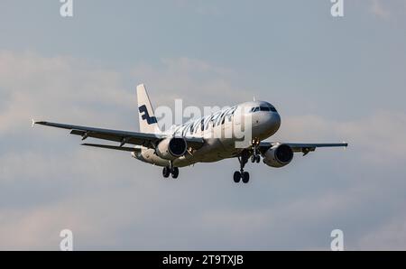
<instances>
[{"instance_id":1,"label":"engine under the left wing, pale casing with dark round intake","mask_svg":"<svg viewBox=\"0 0 406 269\"><path fill-rule=\"evenodd\" d=\"M155 153L165 160L174 160L183 156L188 149L188 144L183 137L165 138L156 147Z\"/></svg>"}]
</instances>

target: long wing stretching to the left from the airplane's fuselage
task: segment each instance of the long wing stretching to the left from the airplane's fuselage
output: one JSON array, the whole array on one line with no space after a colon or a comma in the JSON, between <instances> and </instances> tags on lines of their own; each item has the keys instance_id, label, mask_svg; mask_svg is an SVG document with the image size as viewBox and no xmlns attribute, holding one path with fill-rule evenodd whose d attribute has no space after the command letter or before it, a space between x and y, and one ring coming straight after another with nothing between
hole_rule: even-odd
<instances>
[{"instance_id":1,"label":"long wing stretching to the left from the airplane's fuselage","mask_svg":"<svg viewBox=\"0 0 406 269\"><path fill-rule=\"evenodd\" d=\"M142 145L148 148L155 148L155 146L159 144L159 142L162 139L170 136L161 134L147 134L138 132L110 130L79 125L65 125L44 121L40 122L32 121L32 125L46 125L51 127L68 129L71 130L70 131L71 135L82 136L82 140L85 140L88 137L93 137L102 140L115 141L120 143L119 147L123 147L125 144L134 144L134 145ZM204 144L204 140L202 138L198 137L184 137L184 138L186 139L188 146L194 149L198 149ZM93 145L93 144L85 144L85 145ZM105 147L105 148L117 149L116 147Z\"/></svg>"}]
</instances>

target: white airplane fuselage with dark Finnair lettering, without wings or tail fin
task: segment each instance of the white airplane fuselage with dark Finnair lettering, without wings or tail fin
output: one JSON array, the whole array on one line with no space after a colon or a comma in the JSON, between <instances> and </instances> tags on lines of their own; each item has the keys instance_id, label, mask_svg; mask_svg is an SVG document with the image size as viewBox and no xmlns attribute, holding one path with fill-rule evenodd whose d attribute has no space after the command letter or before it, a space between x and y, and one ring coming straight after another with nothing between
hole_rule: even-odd
<instances>
[{"instance_id":1,"label":"white airplane fuselage with dark Finnair lettering, without wings or tail fin","mask_svg":"<svg viewBox=\"0 0 406 269\"><path fill-rule=\"evenodd\" d=\"M248 121L251 124L245 125ZM254 101L227 107L209 116L173 126L165 134L205 139L205 144L201 148L172 161L174 166L183 167L196 162L217 162L237 156L243 149L235 146L235 142L241 141L241 137L236 135L235 129L244 130L245 126L249 126L252 140L261 141L274 135L280 125L281 116L271 104ZM170 165L169 160L162 159L151 148L142 147L133 153L133 156L154 165Z\"/></svg>"}]
</instances>

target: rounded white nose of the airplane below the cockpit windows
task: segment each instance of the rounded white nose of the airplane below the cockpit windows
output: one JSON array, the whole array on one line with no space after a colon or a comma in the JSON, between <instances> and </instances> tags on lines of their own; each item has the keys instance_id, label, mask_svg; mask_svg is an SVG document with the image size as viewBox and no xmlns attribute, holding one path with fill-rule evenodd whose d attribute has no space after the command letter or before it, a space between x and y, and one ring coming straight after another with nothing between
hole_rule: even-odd
<instances>
[{"instance_id":1,"label":"rounded white nose of the airplane below the cockpit windows","mask_svg":"<svg viewBox=\"0 0 406 269\"><path fill-rule=\"evenodd\" d=\"M261 113L253 116L253 136L260 139L274 135L281 126L281 116L277 112Z\"/></svg>"}]
</instances>

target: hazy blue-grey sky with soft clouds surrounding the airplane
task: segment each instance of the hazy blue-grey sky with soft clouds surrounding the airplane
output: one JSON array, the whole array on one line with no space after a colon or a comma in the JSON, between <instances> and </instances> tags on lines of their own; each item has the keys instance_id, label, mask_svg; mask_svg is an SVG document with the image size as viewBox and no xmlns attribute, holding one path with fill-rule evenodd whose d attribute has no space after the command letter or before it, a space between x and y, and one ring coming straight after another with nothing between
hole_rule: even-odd
<instances>
[{"instance_id":1,"label":"hazy blue-grey sky with soft clouds surrounding the airplane","mask_svg":"<svg viewBox=\"0 0 406 269\"><path fill-rule=\"evenodd\" d=\"M406 248L406 1L0 2L0 249ZM161 168L31 119L137 131L154 107L267 100L269 141L337 143L274 169Z\"/></svg>"}]
</instances>

